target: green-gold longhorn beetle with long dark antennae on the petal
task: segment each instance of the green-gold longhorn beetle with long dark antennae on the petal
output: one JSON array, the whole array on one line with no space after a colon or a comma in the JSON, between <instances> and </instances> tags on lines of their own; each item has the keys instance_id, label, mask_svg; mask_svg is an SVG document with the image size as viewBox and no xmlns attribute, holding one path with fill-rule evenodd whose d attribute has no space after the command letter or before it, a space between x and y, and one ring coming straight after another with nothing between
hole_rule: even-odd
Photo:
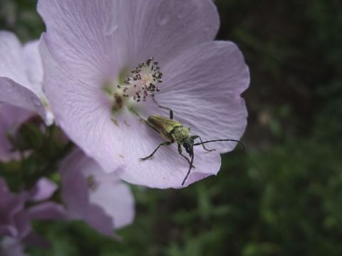
<instances>
[{"instance_id":1,"label":"green-gold longhorn beetle with long dark antennae on the petal","mask_svg":"<svg viewBox=\"0 0 342 256\"><path fill-rule=\"evenodd\" d=\"M149 156L141 158L140 161L150 159L155 154L155 152L160 148L160 146L169 146L172 143L176 142L178 145L178 153L182 157L184 157L190 164L189 170L187 171L187 175L182 181L182 186L187 180L187 177L189 176L191 169L195 168L195 166L192 165L194 161L194 146L202 145L204 150L214 151L215 149L207 149L204 146L204 144L209 142L238 142L239 144L242 144L243 147L245 147L244 143L240 142L237 139L214 139L207 142L203 142L201 137L199 137L198 135L190 134L190 127L186 128L183 126L181 122L173 119L173 111L170 108L160 106L154 98L153 100L155 101L158 107L170 111L170 118L162 117L160 115L151 115L147 118L147 120L142 119L141 117L140 119L142 119L149 127L151 127L157 133L159 133L164 139L167 139L167 141L160 143ZM195 139L199 139L200 142L195 143ZM187 154L189 154L190 159L188 159L187 156L182 154L182 146L185 148L185 151L187 151Z\"/></svg>"}]
</instances>

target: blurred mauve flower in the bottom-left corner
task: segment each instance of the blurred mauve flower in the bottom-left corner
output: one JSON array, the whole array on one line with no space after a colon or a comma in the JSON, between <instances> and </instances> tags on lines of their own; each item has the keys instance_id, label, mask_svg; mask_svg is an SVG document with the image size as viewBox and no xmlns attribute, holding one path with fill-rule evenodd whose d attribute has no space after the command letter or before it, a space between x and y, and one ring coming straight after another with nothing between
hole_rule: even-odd
<instances>
[{"instance_id":1,"label":"blurred mauve flower in the bottom-left corner","mask_svg":"<svg viewBox=\"0 0 342 256\"><path fill-rule=\"evenodd\" d=\"M0 178L0 240L11 238L10 244L25 244L46 247L48 242L31 230L31 220L56 220L66 218L64 208L47 201L57 186L47 178L41 178L30 191L11 193L3 178ZM26 208L26 204L31 207ZM6 245L6 246L5 246ZM1 242L1 247L9 245Z\"/></svg>"}]
</instances>

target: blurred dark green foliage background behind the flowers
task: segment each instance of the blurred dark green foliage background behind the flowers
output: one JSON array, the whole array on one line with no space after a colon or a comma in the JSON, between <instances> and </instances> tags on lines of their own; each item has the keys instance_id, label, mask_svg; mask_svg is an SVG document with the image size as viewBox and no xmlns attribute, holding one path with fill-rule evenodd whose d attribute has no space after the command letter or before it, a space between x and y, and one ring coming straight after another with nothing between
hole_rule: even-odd
<instances>
[{"instance_id":1,"label":"blurred dark green foliage background behind the flowers","mask_svg":"<svg viewBox=\"0 0 342 256\"><path fill-rule=\"evenodd\" d=\"M34 223L53 247L31 255L342 255L342 1L215 3L217 39L251 71L247 150L189 188L132 186L120 242L81 222ZM38 38L36 1L0 0L0 28Z\"/></svg>"}]
</instances>

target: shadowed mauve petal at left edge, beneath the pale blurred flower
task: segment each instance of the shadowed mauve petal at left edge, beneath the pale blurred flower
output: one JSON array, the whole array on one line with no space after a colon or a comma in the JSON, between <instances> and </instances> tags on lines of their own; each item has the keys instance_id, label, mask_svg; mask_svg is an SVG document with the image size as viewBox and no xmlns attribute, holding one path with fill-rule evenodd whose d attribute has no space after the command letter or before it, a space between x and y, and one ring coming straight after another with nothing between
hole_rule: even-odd
<instances>
[{"instance_id":1,"label":"shadowed mauve petal at left edge, beneath the pale blurred flower","mask_svg":"<svg viewBox=\"0 0 342 256\"><path fill-rule=\"evenodd\" d=\"M20 127L33 112L21 107L11 105L0 105L0 160L9 161L18 159L19 152L12 151L12 145L9 142L9 134L15 134L16 129Z\"/></svg>"}]
</instances>

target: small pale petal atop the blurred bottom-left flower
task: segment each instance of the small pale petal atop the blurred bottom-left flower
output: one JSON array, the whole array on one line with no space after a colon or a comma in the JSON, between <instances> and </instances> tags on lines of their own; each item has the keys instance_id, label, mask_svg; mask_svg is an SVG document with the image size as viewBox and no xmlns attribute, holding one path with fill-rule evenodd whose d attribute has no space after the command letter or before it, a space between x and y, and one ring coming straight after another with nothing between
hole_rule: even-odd
<instances>
[{"instance_id":1,"label":"small pale petal atop the blurred bottom-left flower","mask_svg":"<svg viewBox=\"0 0 342 256\"><path fill-rule=\"evenodd\" d=\"M36 185L31 189L29 200L43 201L50 198L57 190L58 186L48 178L41 178L37 181Z\"/></svg>"}]
</instances>

